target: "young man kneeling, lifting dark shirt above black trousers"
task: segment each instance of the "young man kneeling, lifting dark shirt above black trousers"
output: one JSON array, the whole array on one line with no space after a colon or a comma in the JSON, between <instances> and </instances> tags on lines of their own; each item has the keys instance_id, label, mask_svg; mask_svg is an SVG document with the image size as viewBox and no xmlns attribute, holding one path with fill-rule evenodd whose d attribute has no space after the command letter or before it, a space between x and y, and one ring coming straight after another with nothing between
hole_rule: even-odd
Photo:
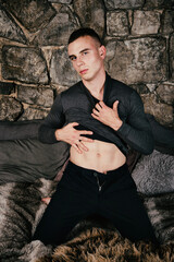
<instances>
[{"instance_id":1,"label":"young man kneeling, lifting dark shirt above black trousers","mask_svg":"<svg viewBox=\"0 0 174 262\"><path fill-rule=\"evenodd\" d=\"M95 31L75 31L69 57L82 81L57 97L39 139L69 143L70 162L34 239L62 243L80 219L98 214L133 241L156 240L125 164L127 145L153 150L141 99L105 73L105 47Z\"/></svg>"}]
</instances>

